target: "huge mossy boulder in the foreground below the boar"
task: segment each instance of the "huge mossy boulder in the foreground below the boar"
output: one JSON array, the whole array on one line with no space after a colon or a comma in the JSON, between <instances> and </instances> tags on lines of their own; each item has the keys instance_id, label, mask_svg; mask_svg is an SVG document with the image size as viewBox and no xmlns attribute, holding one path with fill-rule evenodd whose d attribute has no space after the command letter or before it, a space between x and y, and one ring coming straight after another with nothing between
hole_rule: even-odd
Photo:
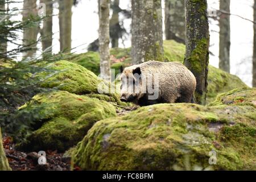
<instances>
[{"instance_id":1,"label":"huge mossy boulder in the foreground below the boar","mask_svg":"<svg viewBox=\"0 0 256 182\"><path fill-rule=\"evenodd\" d=\"M158 104L98 121L72 162L84 170L255 170L255 93L234 90L218 97L223 104ZM224 103L241 94L243 104Z\"/></svg>"}]
</instances>

